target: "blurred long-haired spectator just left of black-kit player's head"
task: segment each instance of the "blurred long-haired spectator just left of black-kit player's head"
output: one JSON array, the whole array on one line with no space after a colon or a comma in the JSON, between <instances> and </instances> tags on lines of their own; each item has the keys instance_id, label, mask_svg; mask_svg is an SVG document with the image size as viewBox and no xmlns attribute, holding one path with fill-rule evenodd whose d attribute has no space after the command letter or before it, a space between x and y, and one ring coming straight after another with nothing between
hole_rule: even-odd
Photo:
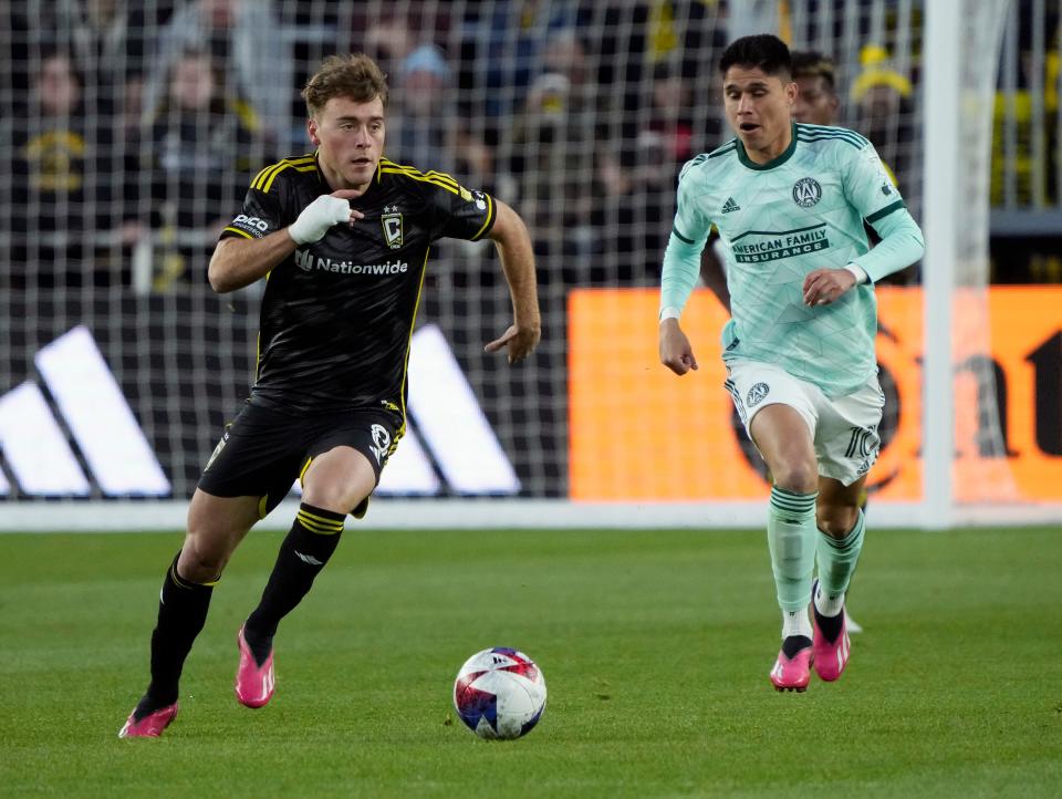
<instances>
[{"instance_id":1,"label":"blurred long-haired spectator just left of black-kit player's head","mask_svg":"<svg viewBox=\"0 0 1062 799\"><path fill-rule=\"evenodd\" d=\"M267 160L254 117L241 113L226 73L201 50L184 52L170 69L167 93L153 115L144 167L152 174L152 226L171 245L159 257L157 289L175 280L201 283L218 234L238 205L253 165Z\"/></svg>"}]
</instances>

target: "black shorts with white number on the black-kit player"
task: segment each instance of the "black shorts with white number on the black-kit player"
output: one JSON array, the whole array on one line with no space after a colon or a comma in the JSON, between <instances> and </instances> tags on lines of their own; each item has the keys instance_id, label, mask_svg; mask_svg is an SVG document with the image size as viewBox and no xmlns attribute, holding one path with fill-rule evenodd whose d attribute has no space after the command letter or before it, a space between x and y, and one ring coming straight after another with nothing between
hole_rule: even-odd
<instances>
[{"instance_id":1,"label":"black shorts with white number on the black-kit player","mask_svg":"<svg viewBox=\"0 0 1062 799\"><path fill-rule=\"evenodd\" d=\"M216 497L259 497L264 517L288 496L311 461L333 447L362 453L376 473L398 445L402 416L384 408L316 415L290 414L247 404L225 433L199 478ZM353 509L364 515L363 502Z\"/></svg>"}]
</instances>

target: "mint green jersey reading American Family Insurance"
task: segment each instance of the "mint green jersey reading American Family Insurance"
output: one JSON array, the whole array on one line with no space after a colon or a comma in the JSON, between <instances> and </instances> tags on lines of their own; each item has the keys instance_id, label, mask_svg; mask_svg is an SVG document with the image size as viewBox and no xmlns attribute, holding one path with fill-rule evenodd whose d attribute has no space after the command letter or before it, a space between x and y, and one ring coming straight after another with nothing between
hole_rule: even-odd
<instances>
[{"instance_id":1,"label":"mint green jersey reading American Family Insurance","mask_svg":"<svg viewBox=\"0 0 1062 799\"><path fill-rule=\"evenodd\" d=\"M842 127L794 125L790 147L764 165L738 139L690 160L674 235L699 251L715 224L730 252L723 359L777 364L827 396L862 386L877 365L873 283L809 308L804 277L857 262L870 249L863 220L902 209L873 145Z\"/></svg>"}]
</instances>

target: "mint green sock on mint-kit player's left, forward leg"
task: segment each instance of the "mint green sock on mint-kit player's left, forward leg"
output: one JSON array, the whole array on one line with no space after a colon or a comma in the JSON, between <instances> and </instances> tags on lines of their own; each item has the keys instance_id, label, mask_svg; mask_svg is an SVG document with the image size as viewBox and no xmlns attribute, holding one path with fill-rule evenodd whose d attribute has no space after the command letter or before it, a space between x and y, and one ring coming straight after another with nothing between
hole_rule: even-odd
<instances>
[{"instance_id":1,"label":"mint green sock on mint-kit player's left, forward leg","mask_svg":"<svg viewBox=\"0 0 1062 799\"><path fill-rule=\"evenodd\" d=\"M778 604L790 613L811 601L811 573L815 568L815 494L796 494L775 486L767 518L767 543Z\"/></svg>"}]
</instances>

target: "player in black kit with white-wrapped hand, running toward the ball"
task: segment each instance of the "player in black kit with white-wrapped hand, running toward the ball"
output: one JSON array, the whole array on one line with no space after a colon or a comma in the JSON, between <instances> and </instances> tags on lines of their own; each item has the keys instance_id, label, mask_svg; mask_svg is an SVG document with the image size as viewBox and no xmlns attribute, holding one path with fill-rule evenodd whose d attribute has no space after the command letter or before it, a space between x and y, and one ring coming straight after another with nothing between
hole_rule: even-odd
<instances>
[{"instance_id":1,"label":"player in black kit with white-wrapped hand, running toward the ball","mask_svg":"<svg viewBox=\"0 0 1062 799\"><path fill-rule=\"evenodd\" d=\"M449 175L383 157L387 84L365 55L332 56L303 97L316 151L262 169L210 259L210 286L267 279L258 376L208 460L184 547L166 572L152 682L119 737L157 737L177 715L185 658L233 550L302 481L302 505L261 602L237 635L238 701L273 694L273 634L360 518L405 430L406 366L429 246L490 238L513 323L487 344L527 357L541 335L528 229Z\"/></svg>"}]
</instances>

